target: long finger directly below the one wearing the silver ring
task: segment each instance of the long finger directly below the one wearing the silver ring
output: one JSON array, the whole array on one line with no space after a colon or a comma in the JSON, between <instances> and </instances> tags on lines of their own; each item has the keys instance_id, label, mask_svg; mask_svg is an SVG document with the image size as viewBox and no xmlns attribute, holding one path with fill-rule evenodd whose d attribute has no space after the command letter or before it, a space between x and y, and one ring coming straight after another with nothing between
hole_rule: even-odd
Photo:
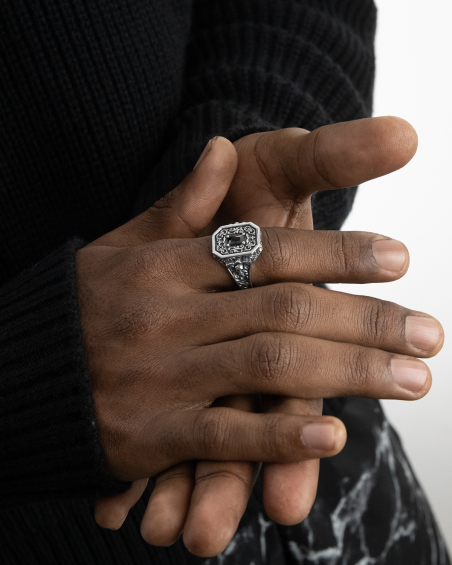
<instances>
[{"instance_id":1,"label":"long finger directly below the one wearing the silver ring","mask_svg":"<svg viewBox=\"0 0 452 565\"><path fill-rule=\"evenodd\" d=\"M432 357L444 343L441 324L428 314L377 298L307 284L286 283L245 292L196 294L183 317L199 319L193 345L208 345L262 332L288 332L328 341ZM185 330L185 326L181 324ZM186 333L186 330L185 330Z\"/></svg>"}]
</instances>

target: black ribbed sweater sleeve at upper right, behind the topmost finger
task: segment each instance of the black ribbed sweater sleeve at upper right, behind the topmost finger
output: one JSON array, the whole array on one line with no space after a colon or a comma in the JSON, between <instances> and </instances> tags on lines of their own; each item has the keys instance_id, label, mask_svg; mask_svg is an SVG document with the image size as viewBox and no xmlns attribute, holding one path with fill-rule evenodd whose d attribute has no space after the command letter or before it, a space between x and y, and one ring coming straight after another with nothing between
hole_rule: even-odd
<instances>
[{"instance_id":1,"label":"black ribbed sweater sleeve at upper right, behind the topmost finger","mask_svg":"<svg viewBox=\"0 0 452 565\"><path fill-rule=\"evenodd\" d=\"M372 0L194 0L181 112L134 213L177 186L215 135L370 116L375 22ZM354 194L317 194L316 228L339 229Z\"/></svg>"}]
</instances>

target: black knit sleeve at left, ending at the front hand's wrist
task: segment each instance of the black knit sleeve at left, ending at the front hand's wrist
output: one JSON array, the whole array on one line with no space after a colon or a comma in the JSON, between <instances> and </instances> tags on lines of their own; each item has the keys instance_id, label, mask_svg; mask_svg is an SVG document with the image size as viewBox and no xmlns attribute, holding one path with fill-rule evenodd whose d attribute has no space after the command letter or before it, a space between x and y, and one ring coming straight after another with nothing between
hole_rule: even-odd
<instances>
[{"instance_id":1,"label":"black knit sleeve at left, ending at the front hand's wrist","mask_svg":"<svg viewBox=\"0 0 452 565\"><path fill-rule=\"evenodd\" d=\"M123 492L98 439L74 240L0 289L0 504Z\"/></svg>"}]
</instances>

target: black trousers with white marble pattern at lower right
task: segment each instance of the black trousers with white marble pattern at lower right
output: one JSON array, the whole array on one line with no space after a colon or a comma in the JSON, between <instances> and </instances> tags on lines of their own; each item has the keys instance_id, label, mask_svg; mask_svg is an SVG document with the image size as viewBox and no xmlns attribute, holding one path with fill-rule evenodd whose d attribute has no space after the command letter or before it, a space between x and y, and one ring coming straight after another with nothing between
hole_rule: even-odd
<instances>
[{"instance_id":1,"label":"black trousers with white marble pattern at lower right","mask_svg":"<svg viewBox=\"0 0 452 565\"><path fill-rule=\"evenodd\" d=\"M329 410L337 412L337 406ZM308 518L292 527L271 522L258 483L226 551L200 563L450 565L429 504L380 403L346 399L340 417L347 445L322 461Z\"/></svg>"}]
</instances>

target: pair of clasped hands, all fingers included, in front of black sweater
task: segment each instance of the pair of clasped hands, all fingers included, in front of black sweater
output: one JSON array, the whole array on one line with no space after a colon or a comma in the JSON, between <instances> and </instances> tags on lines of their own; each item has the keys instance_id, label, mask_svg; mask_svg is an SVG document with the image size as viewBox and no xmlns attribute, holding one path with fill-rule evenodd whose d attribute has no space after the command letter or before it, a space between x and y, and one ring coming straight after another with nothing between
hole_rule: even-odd
<instances>
[{"instance_id":1,"label":"pair of clasped hands, all fingers included, in front of black sweater","mask_svg":"<svg viewBox=\"0 0 452 565\"><path fill-rule=\"evenodd\" d=\"M312 286L405 274L400 242L312 231L310 196L395 171L416 147L398 118L215 138L171 193L79 250L97 427L113 475L134 481L96 501L99 525L119 528L156 477L144 539L170 545L182 533L193 553L216 555L260 462L268 515L298 523L315 499L319 458L346 441L321 399L427 394L431 374L416 358L442 347L434 318ZM208 234L235 221L262 228L253 289L236 290L211 255Z\"/></svg>"}]
</instances>

